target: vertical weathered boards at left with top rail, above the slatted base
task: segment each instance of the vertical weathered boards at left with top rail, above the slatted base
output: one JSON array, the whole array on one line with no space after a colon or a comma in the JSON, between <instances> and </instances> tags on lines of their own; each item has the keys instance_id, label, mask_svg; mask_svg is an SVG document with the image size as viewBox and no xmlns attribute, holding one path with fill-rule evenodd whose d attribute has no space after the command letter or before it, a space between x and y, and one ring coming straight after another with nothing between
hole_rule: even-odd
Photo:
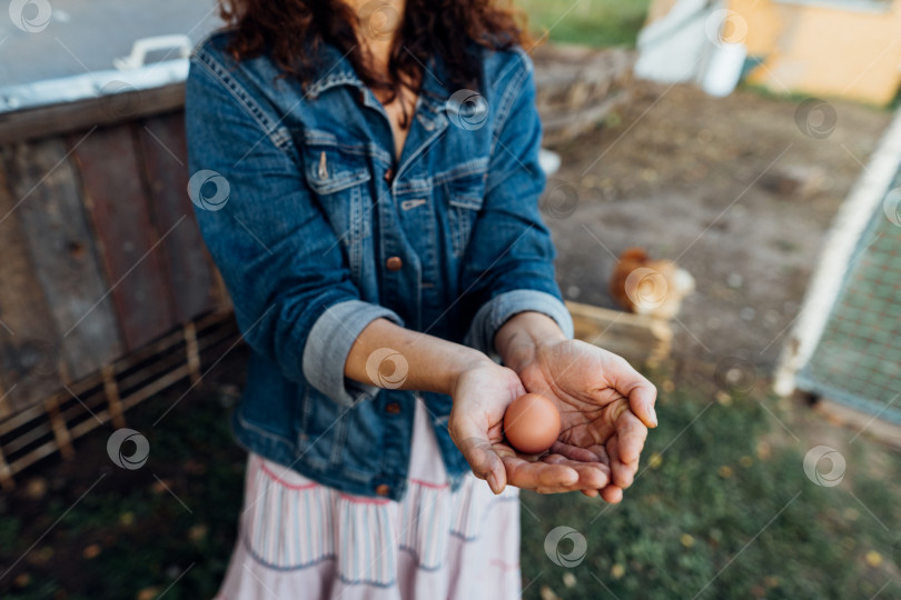
<instances>
[{"instance_id":1,"label":"vertical weathered boards at left with top rail, above the slatted base","mask_svg":"<svg viewBox=\"0 0 901 600\"><path fill-rule=\"evenodd\" d=\"M0 418L228 308L186 193L182 113L142 93L119 121L109 99L0 119Z\"/></svg>"}]
</instances>

